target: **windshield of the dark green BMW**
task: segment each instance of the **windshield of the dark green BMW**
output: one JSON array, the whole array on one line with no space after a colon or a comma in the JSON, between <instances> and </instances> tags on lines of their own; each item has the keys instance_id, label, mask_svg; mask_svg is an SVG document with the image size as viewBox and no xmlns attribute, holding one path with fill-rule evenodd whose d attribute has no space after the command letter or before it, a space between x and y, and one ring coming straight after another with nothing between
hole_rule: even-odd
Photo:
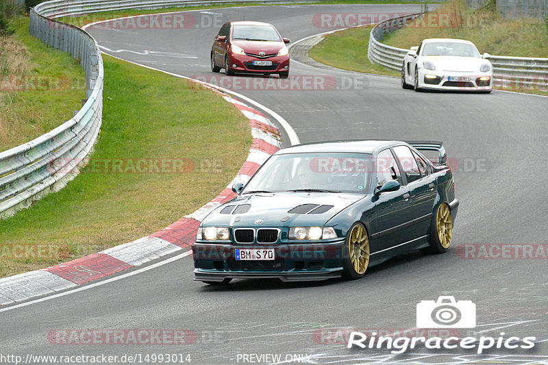
<instances>
[{"instance_id":1,"label":"windshield of the dark green BMW","mask_svg":"<svg viewBox=\"0 0 548 365\"><path fill-rule=\"evenodd\" d=\"M372 156L291 153L270 158L242 194L252 192L366 192Z\"/></svg>"}]
</instances>

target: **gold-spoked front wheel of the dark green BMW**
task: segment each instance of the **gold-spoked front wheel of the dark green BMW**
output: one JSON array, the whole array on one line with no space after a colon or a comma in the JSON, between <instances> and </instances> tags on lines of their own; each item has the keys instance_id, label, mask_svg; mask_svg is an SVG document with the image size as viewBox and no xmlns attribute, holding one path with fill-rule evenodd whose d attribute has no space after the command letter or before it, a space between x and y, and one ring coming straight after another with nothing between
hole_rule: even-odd
<instances>
[{"instance_id":1,"label":"gold-spoked front wheel of the dark green BMW","mask_svg":"<svg viewBox=\"0 0 548 365\"><path fill-rule=\"evenodd\" d=\"M343 278L360 279L369 266L369 237L362 223L354 223L347 234Z\"/></svg>"}]
</instances>

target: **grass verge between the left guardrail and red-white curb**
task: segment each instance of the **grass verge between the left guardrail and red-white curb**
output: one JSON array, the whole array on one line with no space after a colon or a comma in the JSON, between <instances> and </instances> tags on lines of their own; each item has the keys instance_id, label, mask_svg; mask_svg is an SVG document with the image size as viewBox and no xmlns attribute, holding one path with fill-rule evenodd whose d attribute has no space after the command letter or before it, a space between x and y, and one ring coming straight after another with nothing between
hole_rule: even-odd
<instances>
[{"instance_id":1,"label":"grass verge between the left guardrail and red-white curb","mask_svg":"<svg viewBox=\"0 0 548 365\"><path fill-rule=\"evenodd\" d=\"M162 229L223 190L249 152L247 119L219 95L103 58L103 126L90 164L60 192L0 221L0 277ZM164 173L135 172L162 162ZM174 172L180 165L184 172Z\"/></svg>"}]
</instances>

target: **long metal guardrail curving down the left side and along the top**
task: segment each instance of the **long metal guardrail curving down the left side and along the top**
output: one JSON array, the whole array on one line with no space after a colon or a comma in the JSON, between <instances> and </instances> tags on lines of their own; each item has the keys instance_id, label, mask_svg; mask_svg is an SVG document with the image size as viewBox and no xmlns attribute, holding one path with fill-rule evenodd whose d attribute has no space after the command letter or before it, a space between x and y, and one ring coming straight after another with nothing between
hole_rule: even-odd
<instances>
[{"instance_id":1,"label":"long metal guardrail curving down the left side and along the top","mask_svg":"<svg viewBox=\"0 0 548 365\"><path fill-rule=\"evenodd\" d=\"M23 2L22 0L18 0ZM313 0L298 0L311 2ZM53 0L31 10L32 36L71 53L86 71L87 101L71 120L30 142L0 152L0 218L28 207L48 192L60 190L79 172L99 129L103 109L103 59L87 32L55 18L93 12L234 3L295 3L295 0Z\"/></svg>"}]
</instances>

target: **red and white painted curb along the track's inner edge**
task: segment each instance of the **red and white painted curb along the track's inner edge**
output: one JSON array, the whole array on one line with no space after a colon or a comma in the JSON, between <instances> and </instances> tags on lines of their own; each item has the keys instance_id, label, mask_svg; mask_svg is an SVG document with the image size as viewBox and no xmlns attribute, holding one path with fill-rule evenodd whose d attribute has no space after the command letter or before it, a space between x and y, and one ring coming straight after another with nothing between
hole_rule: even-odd
<instances>
[{"instance_id":1,"label":"red and white painted curb along the track's inner edge","mask_svg":"<svg viewBox=\"0 0 548 365\"><path fill-rule=\"evenodd\" d=\"M238 108L249 119L251 126L253 137L251 149L249 149L247 160L233 181L217 197L196 212L184 216L150 236L63 264L0 279L0 305L26 301L73 288L127 268L145 264L175 251L182 251L194 243L198 226L208 212L236 197L236 194L232 192L232 185L238 181L246 183L264 161L281 148L279 131L269 118L219 90L212 90Z\"/></svg>"}]
</instances>

